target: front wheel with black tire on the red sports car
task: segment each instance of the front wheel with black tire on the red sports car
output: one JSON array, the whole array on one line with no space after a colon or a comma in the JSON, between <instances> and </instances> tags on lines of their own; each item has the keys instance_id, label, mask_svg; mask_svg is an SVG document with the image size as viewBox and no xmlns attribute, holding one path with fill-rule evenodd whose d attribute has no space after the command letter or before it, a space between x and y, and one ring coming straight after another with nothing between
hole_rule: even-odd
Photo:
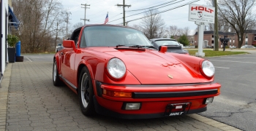
<instances>
[{"instance_id":1,"label":"front wheel with black tire on the red sports car","mask_svg":"<svg viewBox=\"0 0 256 131\"><path fill-rule=\"evenodd\" d=\"M94 88L91 82L91 75L88 68L83 67L79 76L78 98L81 111L85 116L95 114L93 96Z\"/></svg>"}]
</instances>

